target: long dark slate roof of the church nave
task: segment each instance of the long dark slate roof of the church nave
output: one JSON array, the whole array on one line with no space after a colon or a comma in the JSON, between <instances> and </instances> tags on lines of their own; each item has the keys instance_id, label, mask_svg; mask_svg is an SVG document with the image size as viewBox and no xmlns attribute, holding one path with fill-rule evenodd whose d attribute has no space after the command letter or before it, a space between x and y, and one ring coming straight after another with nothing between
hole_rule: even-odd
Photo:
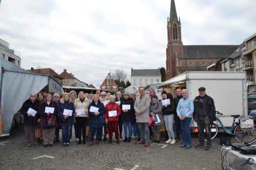
<instances>
[{"instance_id":1,"label":"long dark slate roof of the church nave","mask_svg":"<svg viewBox=\"0 0 256 170\"><path fill-rule=\"evenodd\" d=\"M184 45L179 59L227 58L239 45Z\"/></svg>"}]
</instances>

